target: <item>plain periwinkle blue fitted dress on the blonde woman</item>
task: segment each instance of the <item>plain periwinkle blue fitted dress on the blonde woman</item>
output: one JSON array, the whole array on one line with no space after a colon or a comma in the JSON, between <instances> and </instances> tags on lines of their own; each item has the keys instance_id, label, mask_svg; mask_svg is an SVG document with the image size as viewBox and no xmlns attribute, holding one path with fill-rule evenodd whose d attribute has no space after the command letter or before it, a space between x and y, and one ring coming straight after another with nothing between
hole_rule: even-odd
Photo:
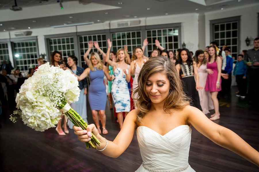
<instances>
[{"instance_id":1,"label":"plain periwinkle blue fitted dress on the blonde woman","mask_svg":"<svg viewBox=\"0 0 259 172\"><path fill-rule=\"evenodd\" d=\"M88 92L88 99L91 110L105 110L106 107L106 87L103 82L104 71L94 68L96 71L89 73L90 86Z\"/></svg>"}]
</instances>

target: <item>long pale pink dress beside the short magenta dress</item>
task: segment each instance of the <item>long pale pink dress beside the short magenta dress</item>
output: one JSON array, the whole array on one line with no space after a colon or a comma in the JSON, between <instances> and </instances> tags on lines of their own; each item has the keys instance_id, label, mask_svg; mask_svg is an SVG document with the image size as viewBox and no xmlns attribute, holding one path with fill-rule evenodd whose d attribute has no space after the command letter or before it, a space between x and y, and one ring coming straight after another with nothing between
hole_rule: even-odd
<instances>
[{"instance_id":1,"label":"long pale pink dress beside the short magenta dress","mask_svg":"<svg viewBox=\"0 0 259 172\"><path fill-rule=\"evenodd\" d=\"M198 89L198 93L200 98L201 109L204 114L208 114L210 113L209 110L214 109L211 95L208 91L205 91L205 85L206 85L206 80L208 75L206 69L207 69L206 64L202 64L199 68L197 67L198 75L199 75L199 85L203 87L203 89Z\"/></svg>"}]
</instances>

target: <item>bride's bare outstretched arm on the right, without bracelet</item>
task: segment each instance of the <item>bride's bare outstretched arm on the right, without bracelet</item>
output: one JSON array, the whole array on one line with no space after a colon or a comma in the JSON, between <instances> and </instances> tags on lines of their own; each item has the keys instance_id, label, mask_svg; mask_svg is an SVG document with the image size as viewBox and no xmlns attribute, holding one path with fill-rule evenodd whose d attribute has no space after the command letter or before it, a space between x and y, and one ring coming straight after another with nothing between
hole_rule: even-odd
<instances>
[{"instance_id":1,"label":"bride's bare outstretched arm on the right, without bracelet","mask_svg":"<svg viewBox=\"0 0 259 172\"><path fill-rule=\"evenodd\" d=\"M214 143L227 148L248 161L259 166L259 152L252 148L235 132L220 126L208 119L195 107L186 107L188 123Z\"/></svg>"}]
</instances>

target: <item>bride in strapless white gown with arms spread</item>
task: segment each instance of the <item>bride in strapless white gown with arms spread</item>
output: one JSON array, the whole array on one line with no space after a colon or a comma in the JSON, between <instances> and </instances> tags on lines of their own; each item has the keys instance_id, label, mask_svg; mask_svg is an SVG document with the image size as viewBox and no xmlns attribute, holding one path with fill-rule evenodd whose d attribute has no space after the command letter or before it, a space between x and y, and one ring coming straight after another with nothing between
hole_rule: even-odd
<instances>
[{"instance_id":1,"label":"bride in strapless white gown with arms spread","mask_svg":"<svg viewBox=\"0 0 259 172\"><path fill-rule=\"evenodd\" d=\"M100 140L106 156L117 158L129 146L134 130L143 163L137 172L194 171L188 164L191 143L191 125L201 134L259 166L259 153L233 131L215 124L199 109L189 105L182 83L169 58L152 57L138 76L137 109L129 112L123 127L113 141L100 134L94 124L87 130L74 126L81 142L91 138L91 132ZM134 97L132 95L132 97Z\"/></svg>"}]
</instances>

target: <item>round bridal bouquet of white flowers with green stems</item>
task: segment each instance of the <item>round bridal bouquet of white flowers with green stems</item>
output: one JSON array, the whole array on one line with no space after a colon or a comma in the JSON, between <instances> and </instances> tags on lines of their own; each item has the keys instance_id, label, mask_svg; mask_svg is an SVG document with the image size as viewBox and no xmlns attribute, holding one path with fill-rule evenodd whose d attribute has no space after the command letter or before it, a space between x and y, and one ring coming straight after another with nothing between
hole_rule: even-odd
<instances>
[{"instance_id":1,"label":"round bridal bouquet of white flowers with green stems","mask_svg":"<svg viewBox=\"0 0 259 172\"><path fill-rule=\"evenodd\" d=\"M18 110L14 115L20 115L24 124L36 131L44 131L55 127L63 112L66 120L68 118L75 126L86 129L87 123L69 105L78 101L79 94L77 77L69 70L50 67L47 62L22 84L16 95ZM16 122L14 115L10 120ZM86 148L96 148L100 141L92 133L91 140L85 144Z\"/></svg>"}]
</instances>

